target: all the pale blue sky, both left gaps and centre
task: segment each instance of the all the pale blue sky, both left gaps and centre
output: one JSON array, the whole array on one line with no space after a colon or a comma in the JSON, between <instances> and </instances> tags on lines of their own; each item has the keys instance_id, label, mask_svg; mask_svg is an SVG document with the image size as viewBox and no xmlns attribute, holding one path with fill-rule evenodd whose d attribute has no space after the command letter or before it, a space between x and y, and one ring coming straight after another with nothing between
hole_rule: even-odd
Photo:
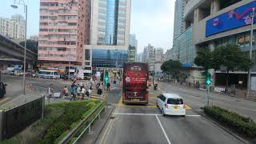
<instances>
[{"instance_id":1,"label":"all the pale blue sky, both left gaps and centre","mask_svg":"<svg viewBox=\"0 0 256 144\"><path fill-rule=\"evenodd\" d=\"M16 0L18 1L18 0ZM28 1L27 35L38 34L39 0ZM149 43L164 50L173 44L175 0L131 0L130 34L136 34L138 53ZM22 5L14 10L10 5L14 0L1 0L0 17L10 18L13 14L25 13Z\"/></svg>"}]
</instances>

